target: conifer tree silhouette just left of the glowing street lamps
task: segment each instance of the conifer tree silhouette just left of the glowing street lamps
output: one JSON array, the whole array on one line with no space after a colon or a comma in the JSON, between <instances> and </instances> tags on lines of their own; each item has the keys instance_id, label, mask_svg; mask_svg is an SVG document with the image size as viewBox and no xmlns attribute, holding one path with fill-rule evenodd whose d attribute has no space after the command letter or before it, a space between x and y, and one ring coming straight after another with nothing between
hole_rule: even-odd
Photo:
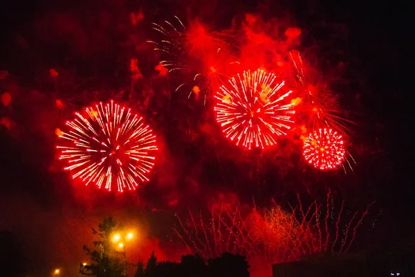
<instances>
[{"instance_id":1,"label":"conifer tree silhouette just left of the glowing street lamps","mask_svg":"<svg viewBox=\"0 0 415 277\"><path fill-rule=\"evenodd\" d=\"M97 277L120 277L122 276L122 263L117 257L116 251L111 248L111 234L119 226L112 217L104 217L98 225L98 231L94 228L92 233L98 236L93 242L95 249L91 250L84 245L84 251L92 261L91 265L80 265L82 275Z\"/></svg>"}]
</instances>

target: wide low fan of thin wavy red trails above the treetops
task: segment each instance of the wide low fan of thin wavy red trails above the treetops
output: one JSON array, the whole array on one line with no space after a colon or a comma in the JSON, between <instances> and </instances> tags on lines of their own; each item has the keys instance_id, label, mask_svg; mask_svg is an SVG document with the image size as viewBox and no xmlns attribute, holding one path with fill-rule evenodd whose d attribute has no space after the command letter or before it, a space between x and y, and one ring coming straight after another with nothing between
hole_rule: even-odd
<instances>
[{"instance_id":1,"label":"wide low fan of thin wavy red trails above the treetops","mask_svg":"<svg viewBox=\"0 0 415 277\"><path fill-rule=\"evenodd\" d=\"M190 251L206 259L227 251L246 256L248 261L262 257L272 264L290 262L314 253L349 251L373 204L360 216L356 212L347 219L344 201L340 212L335 212L330 192L325 205L314 201L304 206L297 197L298 203L295 207L290 205L291 211L275 202L270 208L252 208L247 214L237 206L221 205L212 208L208 221L201 213L195 217L189 211L190 219L185 222L176 215L180 226L174 231Z\"/></svg>"}]
</instances>

